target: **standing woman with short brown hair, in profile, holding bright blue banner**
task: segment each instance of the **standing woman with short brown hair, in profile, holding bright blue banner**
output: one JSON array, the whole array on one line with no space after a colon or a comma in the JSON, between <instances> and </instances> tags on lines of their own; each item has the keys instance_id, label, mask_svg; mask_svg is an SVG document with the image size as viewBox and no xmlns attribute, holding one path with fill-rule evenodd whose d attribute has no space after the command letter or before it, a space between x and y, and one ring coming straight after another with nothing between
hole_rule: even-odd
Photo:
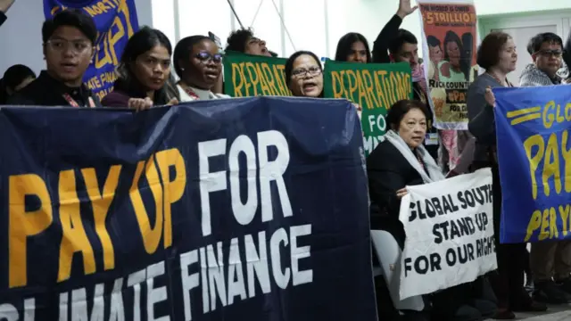
<instances>
[{"instance_id":1,"label":"standing woman with short brown hair, in profile, holding bright blue banner","mask_svg":"<svg viewBox=\"0 0 571 321\"><path fill-rule=\"evenodd\" d=\"M476 136L473 169L492 168L493 226L496 235L498 273L490 277L498 298L500 320L513 319L512 311L545 311L547 307L532 300L524 289L525 243L501 244L501 185L496 155L496 133L492 87L513 86L507 75L516 70L517 52L513 39L504 32L492 32L477 51L477 64L485 73L468 87L468 129Z\"/></svg>"}]
</instances>

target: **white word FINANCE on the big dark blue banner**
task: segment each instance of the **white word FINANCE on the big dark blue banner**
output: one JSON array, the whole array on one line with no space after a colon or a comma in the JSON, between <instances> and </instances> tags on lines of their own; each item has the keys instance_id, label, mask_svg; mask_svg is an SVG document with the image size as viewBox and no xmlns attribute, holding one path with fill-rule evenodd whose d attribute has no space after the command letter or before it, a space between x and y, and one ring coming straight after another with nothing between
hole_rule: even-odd
<instances>
[{"instance_id":1,"label":"white word FINANCE on the big dark blue banner","mask_svg":"<svg viewBox=\"0 0 571 321\"><path fill-rule=\"evenodd\" d=\"M299 238L306 235L311 235L310 225L291 226L288 231L282 227L269 239L266 232L262 231L256 241L252 235L244 235L243 240L230 240L229 246L219 242L216 246L207 245L181 254L185 320L193 319L190 294L198 287L202 287L203 313L206 314L218 308L217 302L225 307L238 300L253 298L256 295L256 284L260 286L262 294L271 292L272 279L281 289L313 282L312 269L300 270L300 260L310 258L310 246L298 246ZM240 257L242 246L244 258ZM228 253L224 252L227 248ZM281 259L285 248L289 248L290 268ZM223 266L227 256L228 269ZM228 273L225 274L225 271Z\"/></svg>"}]
</instances>

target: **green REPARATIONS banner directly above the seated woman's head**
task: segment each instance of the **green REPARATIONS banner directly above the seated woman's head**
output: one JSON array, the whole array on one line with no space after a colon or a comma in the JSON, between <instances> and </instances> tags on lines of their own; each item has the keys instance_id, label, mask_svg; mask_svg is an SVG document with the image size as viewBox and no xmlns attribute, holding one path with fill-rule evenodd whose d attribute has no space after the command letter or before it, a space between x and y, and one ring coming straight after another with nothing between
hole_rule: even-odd
<instances>
[{"instance_id":1,"label":"green REPARATIONS banner directly above the seated woman's head","mask_svg":"<svg viewBox=\"0 0 571 321\"><path fill-rule=\"evenodd\" d=\"M388 126L385 116L389 108L393 103L413 97L410 64L404 62L327 61L323 82L325 97L346 98L360 104L367 155L383 141Z\"/></svg>"}]
</instances>

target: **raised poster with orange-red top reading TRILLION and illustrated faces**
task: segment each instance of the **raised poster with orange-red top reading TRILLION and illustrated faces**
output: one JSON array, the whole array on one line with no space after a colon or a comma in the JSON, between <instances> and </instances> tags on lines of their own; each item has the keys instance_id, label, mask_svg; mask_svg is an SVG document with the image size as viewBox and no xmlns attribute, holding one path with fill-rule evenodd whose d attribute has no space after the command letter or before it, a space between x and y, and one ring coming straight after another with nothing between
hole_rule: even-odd
<instances>
[{"instance_id":1,"label":"raised poster with orange-red top reading TRILLION and illustrated faces","mask_svg":"<svg viewBox=\"0 0 571 321\"><path fill-rule=\"evenodd\" d=\"M466 95L478 73L476 8L471 0L418 0L434 126L468 129Z\"/></svg>"}]
</instances>

